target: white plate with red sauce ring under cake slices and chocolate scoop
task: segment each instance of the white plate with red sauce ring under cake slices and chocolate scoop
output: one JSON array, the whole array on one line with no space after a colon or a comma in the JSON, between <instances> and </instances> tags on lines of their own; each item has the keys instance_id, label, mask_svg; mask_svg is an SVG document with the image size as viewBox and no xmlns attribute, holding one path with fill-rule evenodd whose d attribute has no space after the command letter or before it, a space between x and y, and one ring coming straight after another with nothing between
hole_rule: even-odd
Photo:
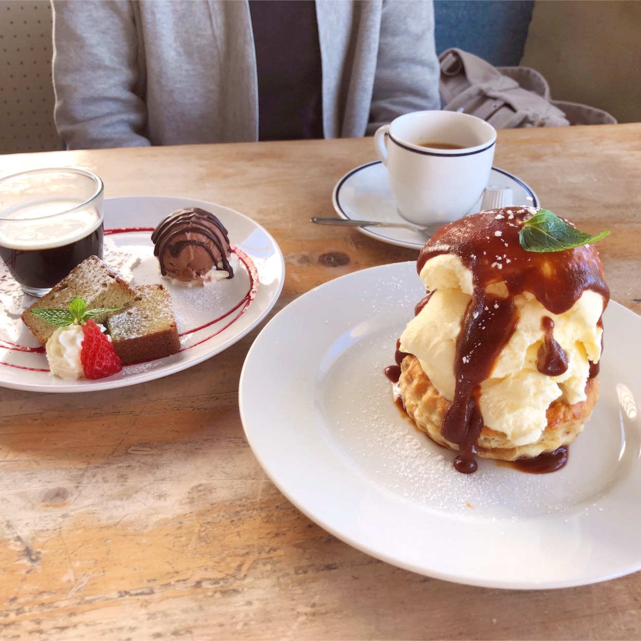
<instances>
[{"instance_id":1,"label":"white plate with red sauce ring under cake slices and chocolate scoop","mask_svg":"<svg viewBox=\"0 0 641 641\"><path fill-rule=\"evenodd\" d=\"M234 278L207 287L172 285L160 276L151 231L183 207L201 207L221 220L238 256ZM274 238L242 213L188 198L137 196L104 201L104 261L132 285L163 283L169 289L181 349L146 363L125 365L114 376L65 381L51 376L47 357L20 315L34 299L0 264L0 386L35 392L92 392L144 383L200 363L233 345L274 306L283 288L285 262Z\"/></svg>"}]
</instances>

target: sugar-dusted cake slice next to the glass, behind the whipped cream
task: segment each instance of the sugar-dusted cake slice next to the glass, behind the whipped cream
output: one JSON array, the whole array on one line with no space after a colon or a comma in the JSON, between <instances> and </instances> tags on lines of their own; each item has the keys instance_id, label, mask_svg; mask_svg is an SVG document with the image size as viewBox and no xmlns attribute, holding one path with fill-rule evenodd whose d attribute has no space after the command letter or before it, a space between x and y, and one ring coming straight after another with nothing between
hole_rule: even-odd
<instances>
[{"instance_id":1,"label":"sugar-dusted cake slice next to the glass, behind the whipped cream","mask_svg":"<svg viewBox=\"0 0 641 641\"><path fill-rule=\"evenodd\" d=\"M55 285L31 307L22 312L22 322L45 345L49 337L56 331L56 326L41 319L31 310L36 308L67 309L69 301L79 296L87 303L87 309L121 308L133 303L136 290L122 276L104 263L97 256L89 256L78 267L74 267L65 278ZM107 313L95 318L97 323L104 324Z\"/></svg>"}]
</instances>

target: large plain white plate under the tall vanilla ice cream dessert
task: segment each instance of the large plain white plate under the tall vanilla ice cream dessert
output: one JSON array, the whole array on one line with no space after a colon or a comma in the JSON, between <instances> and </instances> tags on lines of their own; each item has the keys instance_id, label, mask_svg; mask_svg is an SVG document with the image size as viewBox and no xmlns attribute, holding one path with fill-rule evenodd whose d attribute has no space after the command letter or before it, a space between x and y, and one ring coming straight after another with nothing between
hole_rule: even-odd
<instances>
[{"instance_id":1,"label":"large plain white plate under the tall vanilla ice cream dessert","mask_svg":"<svg viewBox=\"0 0 641 641\"><path fill-rule=\"evenodd\" d=\"M435 578L560 588L641 569L641 347L629 338L641 318L608 306L601 398L565 467L481 459L466 475L383 374L423 295L415 263L365 269L296 299L254 340L240 413L279 490L348 544Z\"/></svg>"}]
</instances>

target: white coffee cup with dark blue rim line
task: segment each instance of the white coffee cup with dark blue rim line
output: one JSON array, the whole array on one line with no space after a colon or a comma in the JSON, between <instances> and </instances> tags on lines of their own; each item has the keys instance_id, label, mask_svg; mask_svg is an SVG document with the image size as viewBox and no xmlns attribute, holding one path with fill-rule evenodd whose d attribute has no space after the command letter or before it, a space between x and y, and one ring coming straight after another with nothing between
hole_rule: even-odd
<instances>
[{"instance_id":1,"label":"white coffee cup with dark blue rim line","mask_svg":"<svg viewBox=\"0 0 641 641\"><path fill-rule=\"evenodd\" d=\"M478 203L495 142L492 125L446 111L406 113L374 134L399 213L421 226L454 221Z\"/></svg>"}]
</instances>

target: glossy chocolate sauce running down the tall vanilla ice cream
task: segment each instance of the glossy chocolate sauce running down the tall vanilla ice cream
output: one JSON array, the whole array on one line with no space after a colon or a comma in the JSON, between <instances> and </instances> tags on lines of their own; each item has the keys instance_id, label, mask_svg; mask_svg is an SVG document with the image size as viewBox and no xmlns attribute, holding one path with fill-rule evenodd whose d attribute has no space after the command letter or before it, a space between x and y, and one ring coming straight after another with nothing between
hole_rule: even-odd
<instances>
[{"instance_id":1,"label":"glossy chocolate sauce running down the tall vanilla ice cream","mask_svg":"<svg viewBox=\"0 0 641 641\"><path fill-rule=\"evenodd\" d=\"M460 472L476 470L474 456L483 428L479 385L488 378L517 326L515 296L531 292L553 314L567 312L586 290L601 294L604 308L610 298L593 246L553 253L526 252L520 246L520 228L534 212L511 207L465 216L438 229L417 260L420 274L430 258L454 254L472 272L473 295L456 344L454 399L441 427L442 436L459 446L454 467ZM501 282L508 290L506 298L487 293L488 286ZM427 302L423 299L417 310ZM553 338L552 319L545 317L543 322L545 341L538 354L538 370L558 376L567 369L567 355ZM601 320L599 324L603 327Z\"/></svg>"}]
</instances>

